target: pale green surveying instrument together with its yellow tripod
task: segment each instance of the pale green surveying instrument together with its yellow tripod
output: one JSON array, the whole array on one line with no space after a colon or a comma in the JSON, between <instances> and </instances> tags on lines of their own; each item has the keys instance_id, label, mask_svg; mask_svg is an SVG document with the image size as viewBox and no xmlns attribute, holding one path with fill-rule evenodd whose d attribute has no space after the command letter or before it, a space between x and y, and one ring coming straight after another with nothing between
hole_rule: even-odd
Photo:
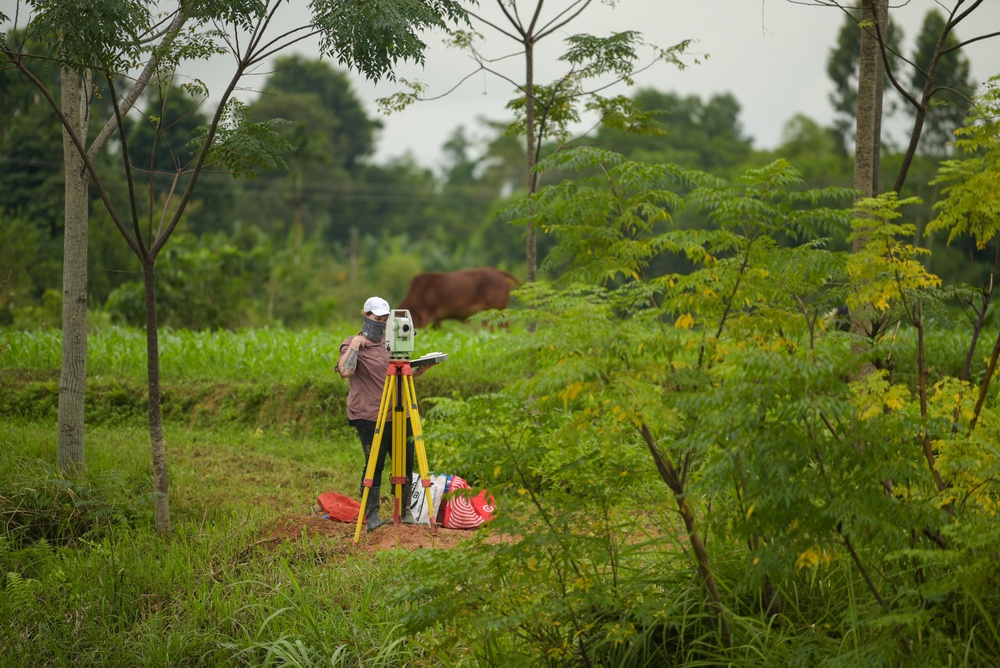
<instances>
[{"instance_id":1,"label":"pale green surveying instrument together with its yellow tripod","mask_svg":"<svg viewBox=\"0 0 1000 668\"><path fill-rule=\"evenodd\" d=\"M375 467L378 463L378 452L382 443L382 430L386 422L392 423L392 474L389 478L393 487L392 523L399 524L402 504L403 486L409 485L406 472L406 417L410 417L413 425L413 447L416 455L417 469L420 472L421 485L427 495L427 508L433 508L431 499L431 474L427 465L427 450L424 448L424 432L420 427L420 413L417 411L417 393L413 387L413 367L437 364L448 359L444 353L431 353L419 359L410 361L413 352L413 321L410 312L396 309L389 312L385 327L385 345L389 351L389 368L386 371L385 384L382 386L382 400L379 403L378 419L375 422L375 435L368 454L368 467L365 469L365 479L362 485L361 508L358 511L358 525L354 530L354 542L361 538L361 525L365 521L365 509L368 506L372 487L378 487L374 480ZM389 416L392 416L391 419ZM410 499L405 500L410 503ZM378 504L379 500L374 499ZM436 528L434 513L430 513L431 528Z\"/></svg>"}]
</instances>

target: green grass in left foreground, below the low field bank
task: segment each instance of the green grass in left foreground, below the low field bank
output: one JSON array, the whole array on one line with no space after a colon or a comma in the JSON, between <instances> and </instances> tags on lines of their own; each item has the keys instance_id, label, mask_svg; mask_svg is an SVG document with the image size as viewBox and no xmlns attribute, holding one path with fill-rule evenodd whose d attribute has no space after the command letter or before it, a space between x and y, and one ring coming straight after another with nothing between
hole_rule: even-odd
<instances>
[{"instance_id":1,"label":"green grass in left foreground, below the low field bank","mask_svg":"<svg viewBox=\"0 0 1000 668\"><path fill-rule=\"evenodd\" d=\"M52 424L5 423L5 511L24 509L59 478L47 463L54 437ZM87 439L77 493L53 493L36 523L66 524L57 513L68 517L87 498L121 512L105 512L85 531L77 513L75 533L62 527L26 542L7 522L0 665L284 665L282 656L399 665L419 657L387 602L404 553L356 553L308 535L266 540L275 520L306 516L319 492L354 488L361 452L352 433L168 429L168 539L151 530L148 435L138 426L94 427Z\"/></svg>"}]
</instances>

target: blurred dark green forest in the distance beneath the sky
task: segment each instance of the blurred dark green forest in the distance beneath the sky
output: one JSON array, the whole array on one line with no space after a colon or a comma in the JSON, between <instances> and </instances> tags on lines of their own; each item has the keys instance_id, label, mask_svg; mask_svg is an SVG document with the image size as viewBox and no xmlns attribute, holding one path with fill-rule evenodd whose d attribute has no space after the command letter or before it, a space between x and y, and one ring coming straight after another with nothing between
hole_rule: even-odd
<instances>
[{"instance_id":1,"label":"blurred dark green forest in the distance beneath the sky","mask_svg":"<svg viewBox=\"0 0 1000 668\"><path fill-rule=\"evenodd\" d=\"M923 31L910 46L899 31L890 42L919 63L933 49L943 17L928 13ZM11 42L17 35L9 34ZM954 36L951 37L954 38ZM857 27L845 18L838 42L830 45L827 74L834 84L830 103L837 112L831 127L803 115L791 117L773 151L752 147L740 122L740 103L731 94L708 99L669 91L638 89L636 106L657 122L654 134L601 127L590 136L546 144L550 154L570 145L597 145L626 157L735 179L747 169L777 158L788 160L805 181L803 188L852 184L856 107ZM44 50L27 44L28 50ZM58 71L33 65L37 76L58 91ZM937 76L971 95L970 63L961 51L944 58ZM922 85L919 80L910 82ZM0 311L0 325L58 326L63 261L63 158L59 121L49 104L18 72L0 71L0 284L13 290ZM194 93L194 94L192 94ZM886 89L886 113L907 113ZM97 86L91 118L113 114ZM197 91L164 79L150 86L126 117L132 162L138 178L170 192L176 166L187 163L208 122ZM917 224L915 242L935 247L928 268L948 282L967 280L975 248L944 247L944 240L923 234L939 198L928 185L950 155L951 131L968 111L964 95L945 95L928 111L924 136L908 185L901 197L922 200L908 216ZM167 102L169 101L169 104ZM895 109L895 111L891 111ZM420 271L495 266L524 274L524 230L496 212L524 192L524 143L508 132L510 119L486 122L471 132L459 124L441 147L445 167L435 173L401 158L380 164L372 159L379 121L351 89L347 75L326 61L300 56L280 58L261 94L246 109L248 120L277 126L286 140L283 164L258 170L257 178L235 179L207 170L198 182L181 226L157 261L160 323L192 329L283 325L323 325L353 314L357 295L369 292L390 301L403 296ZM96 126L95 126L96 127ZM93 130L96 131L96 130ZM489 137L473 141L470 135ZM110 144L101 161L121 161L121 143ZM884 145L883 178L898 169L901 147ZM554 175L547 174L551 180ZM106 184L116 204L125 205L123 182ZM122 243L96 192L90 193L89 308L96 322L141 325L143 282L134 254ZM163 201L139 202L151 217ZM144 210L143 210L144 209ZM157 214L159 215L159 213ZM710 221L681 214L676 223L692 228ZM551 240L538 232L541 271ZM843 246L844 239L832 239ZM677 262L674 260L674 262ZM654 266L654 273L683 266Z\"/></svg>"}]
</instances>

